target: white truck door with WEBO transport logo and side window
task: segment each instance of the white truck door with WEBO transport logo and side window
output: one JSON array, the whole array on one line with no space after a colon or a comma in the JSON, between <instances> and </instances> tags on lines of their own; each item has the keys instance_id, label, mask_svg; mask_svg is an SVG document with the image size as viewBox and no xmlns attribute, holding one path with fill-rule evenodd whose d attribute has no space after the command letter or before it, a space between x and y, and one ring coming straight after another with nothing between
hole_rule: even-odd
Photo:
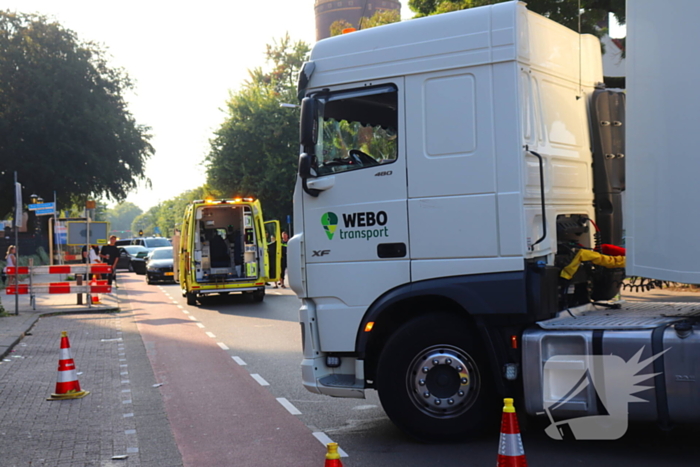
<instances>
[{"instance_id":1,"label":"white truck door with WEBO transport logo and side window","mask_svg":"<svg viewBox=\"0 0 700 467\"><path fill-rule=\"evenodd\" d=\"M403 78L310 94L302 114L303 248L323 326L324 307L361 314L409 281Z\"/></svg>"}]
</instances>

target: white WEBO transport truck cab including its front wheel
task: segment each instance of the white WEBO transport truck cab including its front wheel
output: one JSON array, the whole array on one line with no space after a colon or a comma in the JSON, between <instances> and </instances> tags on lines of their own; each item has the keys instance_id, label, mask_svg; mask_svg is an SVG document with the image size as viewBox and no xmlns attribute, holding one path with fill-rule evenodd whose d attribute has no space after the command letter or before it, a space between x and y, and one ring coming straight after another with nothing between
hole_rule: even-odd
<instances>
[{"instance_id":1,"label":"white WEBO transport truck cab including its front wheel","mask_svg":"<svg viewBox=\"0 0 700 467\"><path fill-rule=\"evenodd\" d=\"M561 277L581 250L624 247L626 97L602 83L597 38L519 2L315 45L288 247L308 390L377 389L407 433L446 439L479 432L499 394L541 412L547 352L628 353L600 327L538 324L592 313L625 277Z\"/></svg>"}]
</instances>

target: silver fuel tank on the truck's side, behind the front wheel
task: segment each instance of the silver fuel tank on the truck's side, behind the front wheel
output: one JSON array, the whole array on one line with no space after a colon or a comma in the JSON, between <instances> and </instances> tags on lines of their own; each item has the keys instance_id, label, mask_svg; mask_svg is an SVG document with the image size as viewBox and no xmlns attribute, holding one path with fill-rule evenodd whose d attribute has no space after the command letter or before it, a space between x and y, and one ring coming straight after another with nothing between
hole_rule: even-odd
<instances>
[{"instance_id":1,"label":"silver fuel tank on the truck's side, behind the front wheel","mask_svg":"<svg viewBox=\"0 0 700 467\"><path fill-rule=\"evenodd\" d=\"M699 422L697 315L697 305L643 303L537 323L522 339L527 412Z\"/></svg>"}]
</instances>

